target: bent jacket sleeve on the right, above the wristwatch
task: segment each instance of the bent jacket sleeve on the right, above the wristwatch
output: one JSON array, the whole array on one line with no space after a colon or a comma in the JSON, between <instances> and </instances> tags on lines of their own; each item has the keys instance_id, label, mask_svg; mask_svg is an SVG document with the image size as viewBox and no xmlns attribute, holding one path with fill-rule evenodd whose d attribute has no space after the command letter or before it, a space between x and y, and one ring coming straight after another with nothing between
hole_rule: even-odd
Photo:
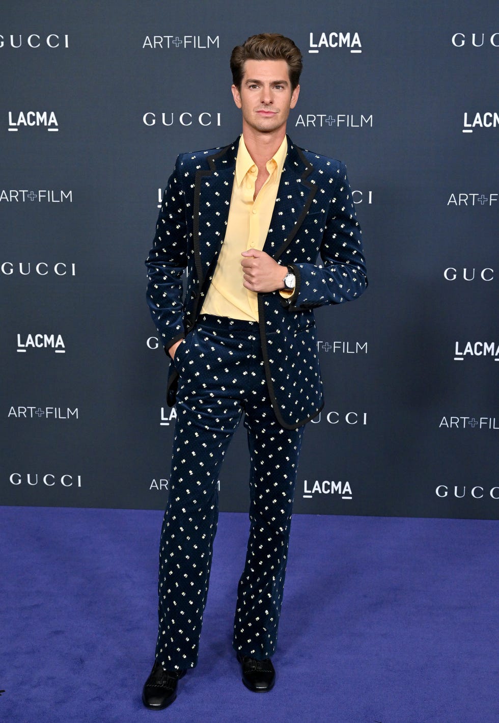
<instances>
[{"instance_id":1,"label":"bent jacket sleeve on the right, above the wristwatch","mask_svg":"<svg viewBox=\"0 0 499 723\"><path fill-rule=\"evenodd\" d=\"M281 303L290 312L357 299L368 286L362 232L355 215L347 169L342 163L334 185L319 253L322 264L291 264L295 292Z\"/></svg>"}]
</instances>

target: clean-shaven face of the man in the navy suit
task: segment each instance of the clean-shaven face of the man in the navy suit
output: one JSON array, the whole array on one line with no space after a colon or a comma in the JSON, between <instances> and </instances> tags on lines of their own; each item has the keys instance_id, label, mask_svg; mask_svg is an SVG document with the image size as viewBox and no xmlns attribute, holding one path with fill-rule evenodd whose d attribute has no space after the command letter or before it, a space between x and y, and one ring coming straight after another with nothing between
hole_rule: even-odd
<instances>
[{"instance_id":1,"label":"clean-shaven face of the man in the navy suit","mask_svg":"<svg viewBox=\"0 0 499 723\"><path fill-rule=\"evenodd\" d=\"M285 60L247 60L241 87L232 87L235 105L243 111L243 132L261 133L286 128L290 108L294 108L300 86L291 90Z\"/></svg>"}]
</instances>

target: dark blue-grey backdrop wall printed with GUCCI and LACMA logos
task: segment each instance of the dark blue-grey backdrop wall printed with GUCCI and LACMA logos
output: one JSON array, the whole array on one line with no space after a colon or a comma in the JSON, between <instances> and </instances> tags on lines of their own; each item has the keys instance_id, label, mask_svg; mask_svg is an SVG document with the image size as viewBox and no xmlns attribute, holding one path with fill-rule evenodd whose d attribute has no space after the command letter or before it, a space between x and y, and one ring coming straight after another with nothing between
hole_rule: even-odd
<instances>
[{"instance_id":1,"label":"dark blue-grey backdrop wall printed with GUCCI and LACMA logos","mask_svg":"<svg viewBox=\"0 0 499 723\"><path fill-rule=\"evenodd\" d=\"M164 508L144 259L176 155L240 132L229 57L259 32L303 53L288 132L347 163L370 281L316 313L295 510L496 518L496 0L4 3L0 503ZM222 510L247 479L240 429Z\"/></svg>"}]
</instances>

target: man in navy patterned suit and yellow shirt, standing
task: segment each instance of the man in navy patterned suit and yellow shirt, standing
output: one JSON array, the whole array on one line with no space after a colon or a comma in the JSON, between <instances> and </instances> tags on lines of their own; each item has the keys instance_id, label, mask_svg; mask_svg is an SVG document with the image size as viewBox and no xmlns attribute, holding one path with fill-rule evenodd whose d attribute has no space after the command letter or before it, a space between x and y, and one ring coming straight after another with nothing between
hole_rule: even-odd
<instances>
[{"instance_id":1,"label":"man in navy patterned suit and yellow shirt, standing","mask_svg":"<svg viewBox=\"0 0 499 723\"><path fill-rule=\"evenodd\" d=\"M234 48L230 67L243 134L178 157L146 262L149 307L173 360L168 403L177 409L156 661L142 693L152 709L172 703L178 680L196 666L217 479L242 417L251 529L233 647L246 687L272 689L303 429L324 406L313 308L355 299L367 285L343 164L286 135L300 92L295 43L254 35Z\"/></svg>"}]
</instances>

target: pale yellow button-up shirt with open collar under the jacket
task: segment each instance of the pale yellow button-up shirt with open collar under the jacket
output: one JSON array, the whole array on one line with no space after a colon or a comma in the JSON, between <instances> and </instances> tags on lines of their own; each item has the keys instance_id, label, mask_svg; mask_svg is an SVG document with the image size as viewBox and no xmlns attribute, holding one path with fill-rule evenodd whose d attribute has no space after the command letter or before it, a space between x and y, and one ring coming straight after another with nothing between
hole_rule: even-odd
<instances>
[{"instance_id":1,"label":"pale yellow button-up shirt with open collar under the jacket","mask_svg":"<svg viewBox=\"0 0 499 723\"><path fill-rule=\"evenodd\" d=\"M204 300L204 314L244 321L259 320L258 294L243 286L241 252L250 249L261 251L264 248L286 153L285 137L277 153L267 161L269 177L253 200L258 168L248 153L243 136L240 137L227 230L213 280Z\"/></svg>"}]
</instances>

